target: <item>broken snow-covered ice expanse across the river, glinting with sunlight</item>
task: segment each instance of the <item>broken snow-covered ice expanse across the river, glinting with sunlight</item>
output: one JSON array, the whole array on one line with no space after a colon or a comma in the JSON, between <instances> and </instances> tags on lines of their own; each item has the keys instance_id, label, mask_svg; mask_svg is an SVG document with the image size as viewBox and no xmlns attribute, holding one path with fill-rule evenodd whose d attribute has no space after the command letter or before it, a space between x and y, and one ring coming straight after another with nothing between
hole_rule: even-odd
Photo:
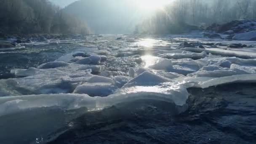
<instances>
[{"instance_id":1,"label":"broken snow-covered ice expanse across the river, glinting with sunlight","mask_svg":"<svg viewBox=\"0 0 256 144\"><path fill-rule=\"evenodd\" d=\"M0 115L45 107L93 110L149 99L170 102L183 112L187 88L256 82L253 49L224 49L228 42L213 44L215 48L176 49L180 43L113 39L114 43L103 38L92 38L84 45L87 47L37 68L12 69L16 78L0 80ZM211 43L185 40L195 46ZM49 43L69 41L35 44Z\"/></svg>"}]
</instances>

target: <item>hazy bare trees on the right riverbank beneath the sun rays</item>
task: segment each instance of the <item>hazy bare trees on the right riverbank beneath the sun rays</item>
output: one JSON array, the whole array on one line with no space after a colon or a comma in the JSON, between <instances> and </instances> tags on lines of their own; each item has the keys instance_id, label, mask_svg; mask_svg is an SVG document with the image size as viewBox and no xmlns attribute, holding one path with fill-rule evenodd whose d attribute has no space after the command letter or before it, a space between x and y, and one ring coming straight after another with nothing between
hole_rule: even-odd
<instances>
[{"instance_id":1,"label":"hazy bare trees on the right riverbank beneath the sun rays","mask_svg":"<svg viewBox=\"0 0 256 144\"><path fill-rule=\"evenodd\" d=\"M180 33L233 20L256 20L256 0L173 0L136 27L136 33Z\"/></svg>"}]
</instances>

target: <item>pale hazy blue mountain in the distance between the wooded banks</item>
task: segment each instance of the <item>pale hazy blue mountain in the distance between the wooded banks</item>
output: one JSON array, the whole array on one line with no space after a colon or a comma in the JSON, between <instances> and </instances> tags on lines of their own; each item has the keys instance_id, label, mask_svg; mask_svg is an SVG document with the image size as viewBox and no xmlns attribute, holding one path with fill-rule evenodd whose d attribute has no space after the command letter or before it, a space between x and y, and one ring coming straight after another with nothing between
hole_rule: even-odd
<instances>
[{"instance_id":1,"label":"pale hazy blue mountain in the distance between the wooded banks","mask_svg":"<svg viewBox=\"0 0 256 144\"><path fill-rule=\"evenodd\" d=\"M78 0L64 11L83 19L96 34L131 33L141 19L141 12L130 0Z\"/></svg>"}]
</instances>

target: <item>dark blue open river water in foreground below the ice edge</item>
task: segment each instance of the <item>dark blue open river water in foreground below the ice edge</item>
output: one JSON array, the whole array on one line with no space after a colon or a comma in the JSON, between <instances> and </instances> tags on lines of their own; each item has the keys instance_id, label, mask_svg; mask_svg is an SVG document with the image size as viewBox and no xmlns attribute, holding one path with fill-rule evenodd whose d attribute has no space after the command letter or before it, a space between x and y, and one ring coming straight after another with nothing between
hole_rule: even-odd
<instances>
[{"instance_id":1,"label":"dark blue open river water in foreground below the ice edge","mask_svg":"<svg viewBox=\"0 0 256 144\"><path fill-rule=\"evenodd\" d=\"M74 127L49 144L256 143L256 83L188 91L189 109L181 115L165 102L110 107L72 120Z\"/></svg>"}]
</instances>

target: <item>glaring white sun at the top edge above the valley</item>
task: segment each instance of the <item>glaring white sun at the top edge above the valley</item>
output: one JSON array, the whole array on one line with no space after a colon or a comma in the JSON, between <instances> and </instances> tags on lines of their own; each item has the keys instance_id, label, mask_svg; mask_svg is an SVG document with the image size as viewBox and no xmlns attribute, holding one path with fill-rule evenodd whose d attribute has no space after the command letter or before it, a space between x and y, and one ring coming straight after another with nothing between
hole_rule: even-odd
<instances>
[{"instance_id":1,"label":"glaring white sun at the top edge above the valley","mask_svg":"<svg viewBox=\"0 0 256 144\"><path fill-rule=\"evenodd\" d=\"M163 9L171 0L136 0L136 5L144 11L156 11Z\"/></svg>"}]
</instances>

